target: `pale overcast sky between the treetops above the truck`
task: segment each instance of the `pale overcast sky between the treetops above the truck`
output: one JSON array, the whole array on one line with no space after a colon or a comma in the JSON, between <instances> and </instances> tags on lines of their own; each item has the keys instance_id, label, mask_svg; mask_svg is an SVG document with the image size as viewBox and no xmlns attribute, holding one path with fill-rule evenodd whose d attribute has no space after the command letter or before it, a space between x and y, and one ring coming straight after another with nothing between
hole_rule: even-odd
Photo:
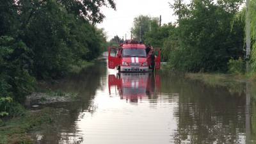
<instances>
[{"instance_id":1,"label":"pale overcast sky between the treetops above the truck","mask_svg":"<svg viewBox=\"0 0 256 144\"><path fill-rule=\"evenodd\" d=\"M162 15L162 24L174 22L175 16L169 3L173 0L115 0L116 11L111 8L102 8L102 12L106 18L101 24L97 24L98 28L104 28L108 36L108 40L115 35L131 37L131 27L134 17L138 15L150 15L151 17L159 17Z\"/></svg>"}]
</instances>

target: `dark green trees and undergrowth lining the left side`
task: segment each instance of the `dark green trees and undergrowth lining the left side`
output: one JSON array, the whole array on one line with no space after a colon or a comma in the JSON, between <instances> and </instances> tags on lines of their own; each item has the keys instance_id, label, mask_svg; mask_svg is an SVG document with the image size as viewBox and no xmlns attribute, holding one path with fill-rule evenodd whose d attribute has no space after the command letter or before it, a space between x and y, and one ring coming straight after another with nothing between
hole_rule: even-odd
<instances>
[{"instance_id":1,"label":"dark green trees and undergrowth lining the left side","mask_svg":"<svg viewBox=\"0 0 256 144\"><path fill-rule=\"evenodd\" d=\"M44 122L31 122L23 107L37 81L79 72L104 51L106 35L95 27L102 6L115 9L113 0L0 1L0 143L26 143L20 125L26 135Z\"/></svg>"}]
</instances>

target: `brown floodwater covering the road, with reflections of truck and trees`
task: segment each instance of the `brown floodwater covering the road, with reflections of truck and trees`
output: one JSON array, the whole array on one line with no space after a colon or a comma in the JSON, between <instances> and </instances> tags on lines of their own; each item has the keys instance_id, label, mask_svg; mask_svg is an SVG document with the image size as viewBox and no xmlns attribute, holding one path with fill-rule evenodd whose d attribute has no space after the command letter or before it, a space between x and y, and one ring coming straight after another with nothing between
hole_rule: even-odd
<instances>
[{"instance_id":1,"label":"brown floodwater covering the road, with reflections of truck and trees","mask_svg":"<svg viewBox=\"0 0 256 144\"><path fill-rule=\"evenodd\" d=\"M49 87L79 97L49 105L57 124L31 134L38 144L256 143L251 84L116 74L102 61Z\"/></svg>"}]
</instances>

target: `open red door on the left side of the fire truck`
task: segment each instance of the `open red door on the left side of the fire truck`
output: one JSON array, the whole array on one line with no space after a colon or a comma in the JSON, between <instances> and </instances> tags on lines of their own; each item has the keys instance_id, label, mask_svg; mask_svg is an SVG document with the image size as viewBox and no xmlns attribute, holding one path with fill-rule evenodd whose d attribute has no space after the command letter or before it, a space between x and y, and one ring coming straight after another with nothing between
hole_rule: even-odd
<instances>
[{"instance_id":1,"label":"open red door on the left side of the fire truck","mask_svg":"<svg viewBox=\"0 0 256 144\"><path fill-rule=\"evenodd\" d=\"M119 58L115 47L108 48L108 68L114 69L118 65Z\"/></svg>"}]
</instances>

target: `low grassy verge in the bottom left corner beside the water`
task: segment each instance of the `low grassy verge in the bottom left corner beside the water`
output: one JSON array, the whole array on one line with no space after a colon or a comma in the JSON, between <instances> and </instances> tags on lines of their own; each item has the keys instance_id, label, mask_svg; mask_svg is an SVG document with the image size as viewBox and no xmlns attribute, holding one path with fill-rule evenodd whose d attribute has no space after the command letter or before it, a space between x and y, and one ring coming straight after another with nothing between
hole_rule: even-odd
<instances>
[{"instance_id":1,"label":"low grassy verge in the bottom left corner beside the water","mask_svg":"<svg viewBox=\"0 0 256 144\"><path fill-rule=\"evenodd\" d=\"M52 124L52 109L44 108L38 111L27 111L26 115L9 120L0 119L1 144L30 144L33 140L28 132L40 129L42 125Z\"/></svg>"}]
</instances>

